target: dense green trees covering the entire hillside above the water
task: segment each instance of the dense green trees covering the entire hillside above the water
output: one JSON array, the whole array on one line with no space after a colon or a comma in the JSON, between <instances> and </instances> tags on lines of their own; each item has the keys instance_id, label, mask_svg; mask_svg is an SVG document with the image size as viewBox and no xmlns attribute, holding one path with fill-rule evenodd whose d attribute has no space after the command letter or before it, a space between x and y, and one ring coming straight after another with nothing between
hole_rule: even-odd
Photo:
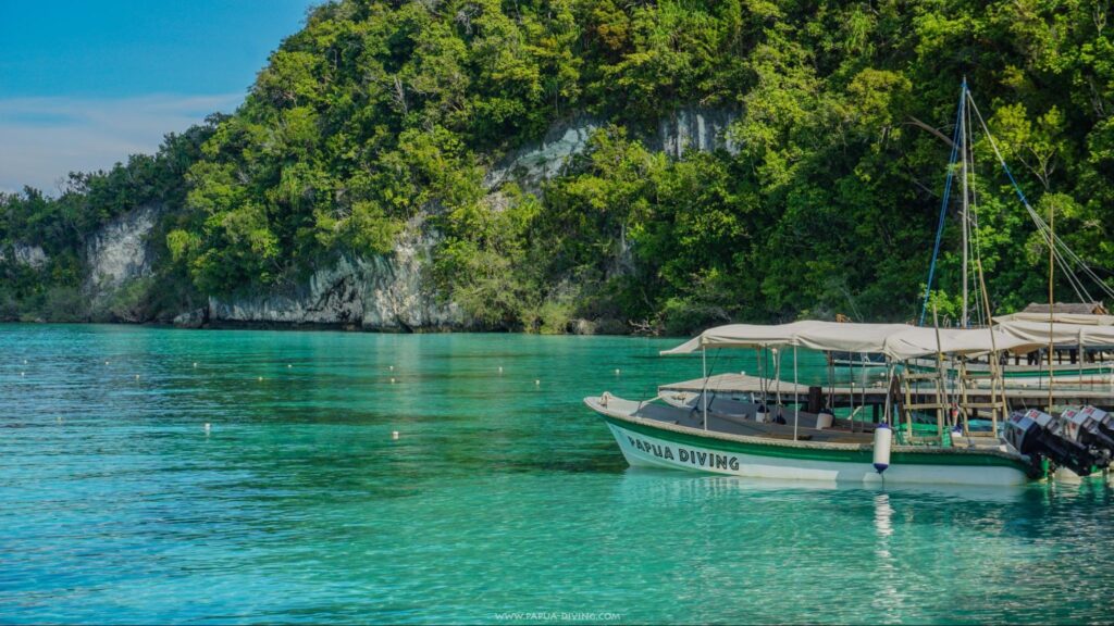
<instances>
[{"instance_id":1,"label":"dense green trees covering the entire hillside above the water","mask_svg":"<svg viewBox=\"0 0 1114 626\"><path fill-rule=\"evenodd\" d=\"M235 115L192 131L199 153L169 140L56 200L4 197L0 239L74 251L157 196L180 207L163 271L203 294L389 253L422 223L447 297L490 326L910 319L964 76L1034 205L1111 266L1110 17L1105 0L330 2ZM733 149L651 149L657 121L694 106L737 114ZM609 124L560 176L485 185L500 156L579 114ZM985 139L975 150L988 291L1012 310L1042 297L1044 257Z\"/></svg>"}]
</instances>

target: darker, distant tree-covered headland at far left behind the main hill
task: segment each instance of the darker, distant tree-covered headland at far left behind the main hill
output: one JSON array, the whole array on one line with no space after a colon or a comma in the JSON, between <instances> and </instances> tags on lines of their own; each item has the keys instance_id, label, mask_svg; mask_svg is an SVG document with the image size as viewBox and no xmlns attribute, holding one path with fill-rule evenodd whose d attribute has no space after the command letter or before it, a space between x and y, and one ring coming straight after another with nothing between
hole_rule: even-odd
<instances>
[{"instance_id":1,"label":"darker, distant tree-covered headland at far left behind the main hill","mask_svg":"<svg viewBox=\"0 0 1114 626\"><path fill-rule=\"evenodd\" d=\"M89 273L82 255L90 236L138 206L182 206L185 175L223 119L214 115L182 135L167 135L155 156L133 155L108 172L71 173L57 197L29 187L19 194L0 193L0 320L145 321L168 314L194 296L184 273L162 263L159 288L148 281L130 285L110 302L92 303L82 287ZM162 234L165 227L156 232ZM153 237L150 245L165 247L162 237ZM28 247L41 248L46 263L21 262L18 248Z\"/></svg>"}]
</instances>

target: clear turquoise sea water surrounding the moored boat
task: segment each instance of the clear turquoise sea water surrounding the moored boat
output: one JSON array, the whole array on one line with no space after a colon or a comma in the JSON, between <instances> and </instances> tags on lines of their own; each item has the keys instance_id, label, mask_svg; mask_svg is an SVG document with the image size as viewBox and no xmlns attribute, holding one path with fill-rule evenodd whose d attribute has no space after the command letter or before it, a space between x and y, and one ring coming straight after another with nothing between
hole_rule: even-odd
<instances>
[{"instance_id":1,"label":"clear turquoise sea water surrounding the moored boat","mask_svg":"<svg viewBox=\"0 0 1114 626\"><path fill-rule=\"evenodd\" d=\"M0 622L1111 619L1102 485L627 468L674 343L0 325Z\"/></svg>"}]
</instances>

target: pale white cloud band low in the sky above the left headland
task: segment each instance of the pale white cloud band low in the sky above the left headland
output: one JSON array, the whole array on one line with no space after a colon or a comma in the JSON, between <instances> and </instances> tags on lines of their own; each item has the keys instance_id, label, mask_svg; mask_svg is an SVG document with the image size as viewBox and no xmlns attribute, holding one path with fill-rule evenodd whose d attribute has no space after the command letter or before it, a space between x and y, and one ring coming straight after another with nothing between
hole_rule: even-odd
<instances>
[{"instance_id":1,"label":"pale white cloud band low in the sky above the left headland","mask_svg":"<svg viewBox=\"0 0 1114 626\"><path fill-rule=\"evenodd\" d=\"M231 113L243 98L0 98L0 190L30 185L56 195L69 172L107 169L130 154L152 154L167 133L211 113Z\"/></svg>"}]
</instances>

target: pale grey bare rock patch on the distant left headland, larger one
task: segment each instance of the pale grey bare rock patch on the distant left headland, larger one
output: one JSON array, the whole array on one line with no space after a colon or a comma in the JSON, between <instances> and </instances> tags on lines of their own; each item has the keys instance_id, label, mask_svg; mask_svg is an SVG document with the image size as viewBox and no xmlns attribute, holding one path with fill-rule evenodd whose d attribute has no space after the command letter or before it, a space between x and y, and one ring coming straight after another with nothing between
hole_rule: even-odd
<instances>
[{"instance_id":1,"label":"pale grey bare rock patch on the distant left headland, larger one","mask_svg":"<svg viewBox=\"0 0 1114 626\"><path fill-rule=\"evenodd\" d=\"M152 254L147 236L158 221L162 207L143 206L109 222L85 246L89 264L88 286L104 293L131 278L152 274Z\"/></svg>"}]
</instances>

